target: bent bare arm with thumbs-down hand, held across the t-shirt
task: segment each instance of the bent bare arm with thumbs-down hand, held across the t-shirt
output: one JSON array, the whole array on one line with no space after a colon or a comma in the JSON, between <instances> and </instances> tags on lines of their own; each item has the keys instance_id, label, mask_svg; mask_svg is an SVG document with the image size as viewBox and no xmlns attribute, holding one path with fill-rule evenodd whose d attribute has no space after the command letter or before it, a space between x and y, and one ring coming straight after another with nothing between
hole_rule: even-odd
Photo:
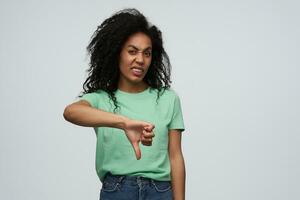
<instances>
[{"instance_id":1,"label":"bent bare arm with thumbs-down hand, held across the t-shirt","mask_svg":"<svg viewBox=\"0 0 300 200\"><path fill-rule=\"evenodd\" d=\"M152 145L153 124L93 108L85 100L68 105L63 116L67 121L80 126L112 127L124 130L138 160L141 158L139 142L147 146Z\"/></svg>"}]
</instances>

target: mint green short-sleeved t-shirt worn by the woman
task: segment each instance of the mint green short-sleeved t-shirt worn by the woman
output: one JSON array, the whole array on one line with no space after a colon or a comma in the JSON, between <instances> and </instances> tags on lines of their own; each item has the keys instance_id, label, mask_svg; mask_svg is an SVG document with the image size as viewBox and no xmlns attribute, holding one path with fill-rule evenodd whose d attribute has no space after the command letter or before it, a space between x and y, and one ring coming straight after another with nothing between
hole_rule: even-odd
<instances>
[{"instance_id":1,"label":"mint green short-sleeved t-shirt worn by the woman","mask_svg":"<svg viewBox=\"0 0 300 200\"><path fill-rule=\"evenodd\" d=\"M167 89L157 99L157 90L148 87L140 93L117 90L115 96L120 109L116 114L142 120L155 125L152 146L140 143L142 157L136 159L133 147L121 129L95 127L97 136L96 171L103 181L107 172L115 175L143 176L160 181L171 180L168 154L168 130L184 131L180 99L172 89ZM115 106L106 92L83 95L92 107L113 112Z\"/></svg>"}]
</instances>

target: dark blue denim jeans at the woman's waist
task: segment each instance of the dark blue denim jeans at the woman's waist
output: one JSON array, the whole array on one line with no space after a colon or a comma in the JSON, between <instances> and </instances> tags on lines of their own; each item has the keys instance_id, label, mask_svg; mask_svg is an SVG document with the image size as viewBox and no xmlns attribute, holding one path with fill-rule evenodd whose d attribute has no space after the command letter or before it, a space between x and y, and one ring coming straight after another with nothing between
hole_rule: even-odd
<instances>
[{"instance_id":1,"label":"dark blue denim jeans at the woman's waist","mask_svg":"<svg viewBox=\"0 0 300 200\"><path fill-rule=\"evenodd\" d=\"M100 200L172 200L170 181L156 181L141 176L112 175L102 183Z\"/></svg>"}]
</instances>

